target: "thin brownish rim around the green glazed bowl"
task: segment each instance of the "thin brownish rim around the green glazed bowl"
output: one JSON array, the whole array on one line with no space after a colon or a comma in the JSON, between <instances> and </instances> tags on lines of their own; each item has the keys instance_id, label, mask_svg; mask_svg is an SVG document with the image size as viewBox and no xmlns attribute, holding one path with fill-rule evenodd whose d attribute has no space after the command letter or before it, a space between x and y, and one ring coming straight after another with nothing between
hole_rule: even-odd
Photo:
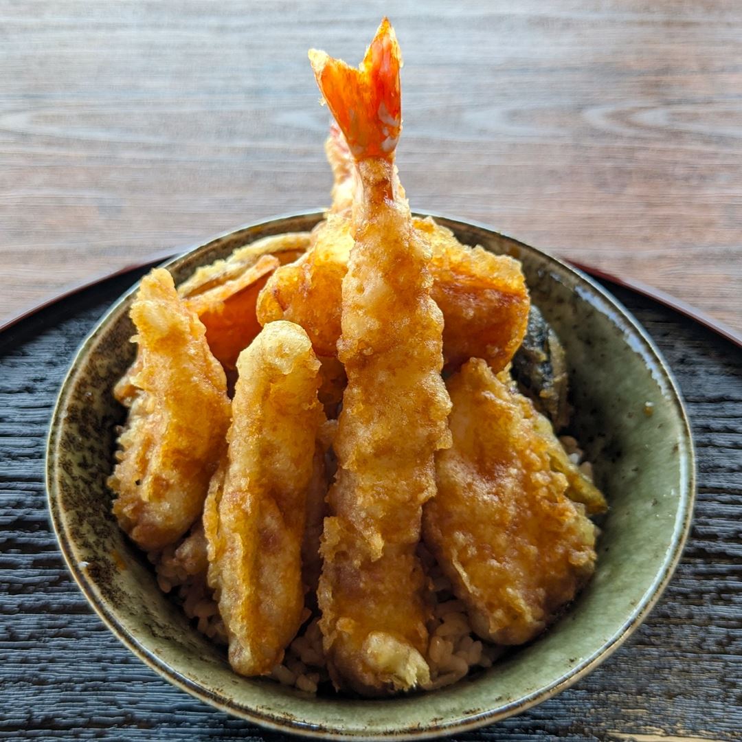
<instances>
[{"instance_id":1,"label":"thin brownish rim around the green glazed bowl","mask_svg":"<svg viewBox=\"0 0 742 742\"><path fill-rule=\"evenodd\" d=\"M128 297L131 296L137 290L139 282L134 284L131 289L128 289L122 296L120 296L105 312L105 315L99 319L96 325L93 327L91 332L82 341L79 349L77 350L72 364L70 364L70 370L65 375L65 380L62 382L62 387L57 398L50 423L50 432L47 439L47 467L46 467L46 486L47 486L47 498L49 502L50 515L53 523L53 528L56 533L56 537L59 541L60 548L62 549L62 555L67 562L68 569L72 574L74 580L79 585L83 594L91 604L92 608L103 623L111 630L111 632L119 639L124 646L130 649L134 654L139 657L142 662L147 664L151 669L160 674L165 680L173 683L175 686L183 689L194 697L209 703L211 706L216 707L224 712L227 712L233 716L249 720L257 723L266 729L272 729L277 732L288 732L293 735L303 735L308 737L318 738L335 738L339 740L378 740L378 739L395 739L395 740L412 740L422 738L433 738L443 737L447 735L453 735L456 732L467 732L473 729L479 729L482 726L487 726L496 721L503 720L510 716L520 714L530 709L532 706L536 706L538 703L554 697L559 692L572 686L577 680L585 677L586 674L592 672L601 663L608 659L611 654L614 653L619 647L631 636L636 630L640 623L647 617L649 611L660 599L663 591L672 579L675 568L680 557L683 554L683 547L685 546L686 539L688 537L693 515L693 506L695 503L695 479L696 479L696 464L695 464L695 449L693 445L693 439L691 434L691 428L688 421L688 416L683 404L683 398L680 395L680 390L677 387L672 371L669 369L666 361L664 360L659 349L655 346L654 342L649 338L646 330L639 324L639 322L628 312L617 299L615 299L609 292L603 289L602 286L595 283L591 278L585 275L582 271L575 269L561 260L557 260L556 257L548 255L539 249L533 248L513 237L503 234L502 232L496 232L485 224L478 223L470 220L460 220L454 217L448 217L445 214L437 214L432 211L416 211L417 216L432 216L437 222L443 226L447 226L450 229L456 229L456 227L462 227L467 230L479 231L483 237L486 235L494 235L496 237L507 240L512 243L518 249L531 252L542 261L542 265L546 268L555 268L560 272L566 272L571 275L571 278L576 282L577 285L582 284L588 292L592 292L594 295L597 294L600 299L608 304L611 309L616 312L618 318L626 324L626 329L634 332L636 338L640 341L643 346L643 351L648 353L651 358L656 362L657 369L664 376L664 381L668 386L671 397L667 400L668 404L674 407L675 413L677 413L680 421L680 438L682 439L681 444L678 448L677 455L680 460L680 492L679 492L679 507L677 510L677 516L674 522L674 530L672 533L672 541L670 547L664 556L663 562L657 571L657 575L654 581L651 583L649 588L646 590L642 599L637 602L637 605L628 615L628 618L623 623L621 628L614 632L614 634L605 640L602 646L597 651L582 659L580 663L577 663L574 667L569 669L567 672L562 673L552 683L542 687L531 694L525 695L517 700L505 703L499 706L493 706L492 709L472 714L455 716L444 720L439 720L436 723L430 724L429 726L421 727L407 727L399 728L396 730L387 730L384 732L378 732L375 734L364 734L363 732L347 732L347 730L338 728L327 728L325 726L317 726L315 724L304 723L299 719L287 719L281 716L272 716L263 714L255 709L249 709L238 703L234 703L228 697L222 694L212 692L208 688L201 686L198 683L194 683L188 677L178 672L174 667L169 666L156 654L152 653L144 646L139 643L134 637L131 637L124 628L118 623L116 618L116 612L111 610L109 605L102 600L97 593L94 585L85 571L78 566L79 556L76 555L76 546L74 542L68 536L65 531L65 524L62 518L62 513L59 510L58 503L58 489L56 485L56 446L59 439L58 431L60 430L60 422L65 410L66 403L68 401L68 394L73 378L76 375L76 371L79 367L79 363L82 358L87 354L88 350L93 347L96 343L97 338L105 330L106 326L110 324L117 316L122 312L123 305ZM234 237L242 232L245 233L246 237L249 237L251 233L254 234L252 239L260 237L261 232L266 234L279 234L280 230L277 229L280 224L287 221L305 220L306 229L311 229L314 223L320 220L324 216L324 212L321 210L310 210L310 211L299 211L292 214L284 214L278 217L272 217L268 220L260 220L254 223L249 223L244 226L240 226L230 232L224 232L217 237L211 238L206 243L202 243L177 257L167 260L162 263L163 267L172 266L174 263L179 263L183 258L188 257L194 252L202 251L207 252L211 246L216 245L221 240L225 240L229 237ZM294 226L294 225L292 225ZM286 231L286 230L284 230ZM485 240L483 240L485 241Z\"/></svg>"}]
</instances>

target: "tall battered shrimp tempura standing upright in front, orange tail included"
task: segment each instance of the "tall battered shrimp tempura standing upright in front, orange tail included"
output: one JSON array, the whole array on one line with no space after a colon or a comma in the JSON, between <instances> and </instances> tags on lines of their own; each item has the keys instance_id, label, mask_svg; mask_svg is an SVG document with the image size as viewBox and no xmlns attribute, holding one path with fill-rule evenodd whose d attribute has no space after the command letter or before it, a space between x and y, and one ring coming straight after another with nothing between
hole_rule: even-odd
<instances>
[{"instance_id":1,"label":"tall battered shrimp tempura standing upright in front, orange tail included","mask_svg":"<svg viewBox=\"0 0 742 742\"><path fill-rule=\"evenodd\" d=\"M449 443L441 381L441 312L430 298L430 252L399 196L401 58L387 19L360 71L309 52L318 85L355 157L338 357L347 372L335 435L318 591L336 686L384 695L427 683L421 505L435 493L433 454ZM268 325L270 326L270 325Z\"/></svg>"}]
</instances>

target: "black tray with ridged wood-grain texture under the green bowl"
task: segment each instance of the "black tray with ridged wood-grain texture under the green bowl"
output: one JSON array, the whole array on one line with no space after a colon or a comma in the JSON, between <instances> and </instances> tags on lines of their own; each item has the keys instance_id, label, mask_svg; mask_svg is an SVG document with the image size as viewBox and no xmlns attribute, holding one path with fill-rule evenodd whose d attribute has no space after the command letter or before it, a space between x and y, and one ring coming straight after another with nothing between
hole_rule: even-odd
<instances>
[{"instance_id":1,"label":"black tray with ridged wood-grain texture under the green bowl","mask_svg":"<svg viewBox=\"0 0 742 742\"><path fill-rule=\"evenodd\" d=\"M120 646L51 531L51 408L77 345L133 280L108 281L0 335L0 739L278 742L168 685ZM456 739L742 740L742 351L616 293L657 341L689 410L698 497L685 554L646 623L603 666L519 717Z\"/></svg>"}]
</instances>

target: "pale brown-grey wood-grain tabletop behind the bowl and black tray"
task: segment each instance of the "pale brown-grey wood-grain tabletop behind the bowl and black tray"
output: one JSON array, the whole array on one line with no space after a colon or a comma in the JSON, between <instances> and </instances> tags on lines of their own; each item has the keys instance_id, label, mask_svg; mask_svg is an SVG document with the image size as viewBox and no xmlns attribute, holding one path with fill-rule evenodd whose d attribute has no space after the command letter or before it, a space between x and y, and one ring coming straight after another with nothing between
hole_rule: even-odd
<instances>
[{"instance_id":1,"label":"pale brown-grey wood-grain tabletop behind the bowl and black tray","mask_svg":"<svg viewBox=\"0 0 742 742\"><path fill-rule=\"evenodd\" d=\"M0 322L328 202L306 50L390 13L414 207L651 283L742 332L738 0L0 0Z\"/></svg>"}]
</instances>

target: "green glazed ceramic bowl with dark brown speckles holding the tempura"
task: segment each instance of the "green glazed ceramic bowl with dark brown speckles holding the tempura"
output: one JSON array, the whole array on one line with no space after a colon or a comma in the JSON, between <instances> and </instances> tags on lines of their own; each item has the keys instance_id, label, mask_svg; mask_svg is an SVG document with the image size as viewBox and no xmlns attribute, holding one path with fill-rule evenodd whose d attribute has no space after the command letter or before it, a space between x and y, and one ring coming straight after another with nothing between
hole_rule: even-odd
<instances>
[{"instance_id":1,"label":"green glazed ceramic bowl with dark brown speckles holding the tempura","mask_svg":"<svg viewBox=\"0 0 742 742\"><path fill-rule=\"evenodd\" d=\"M217 237L168 269L197 266L268 234L311 229L319 212ZM672 375L646 332L582 273L502 234L436 217L462 242L522 261L533 301L567 351L573 425L610 510L594 579L542 637L453 686L389 700L313 697L234 674L225 654L190 626L157 587L145 557L111 515L105 480L122 409L114 381L134 355L131 291L82 344L51 422L47 490L73 577L102 620L166 680L233 715L283 732L411 739L474 729L525 711L598 666L634 631L672 576L695 494L692 439ZM648 413L651 411L651 415Z\"/></svg>"}]
</instances>

